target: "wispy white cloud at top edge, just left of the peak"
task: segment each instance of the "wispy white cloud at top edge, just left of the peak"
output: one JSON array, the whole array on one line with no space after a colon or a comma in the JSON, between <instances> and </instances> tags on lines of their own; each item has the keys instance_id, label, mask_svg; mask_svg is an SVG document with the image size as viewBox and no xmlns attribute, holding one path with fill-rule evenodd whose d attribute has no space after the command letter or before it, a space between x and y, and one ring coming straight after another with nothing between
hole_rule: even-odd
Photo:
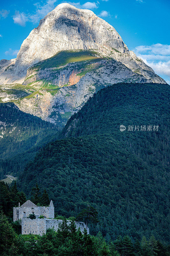
<instances>
[{"instance_id":1,"label":"wispy white cloud at top edge, just left of the peak","mask_svg":"<svg viewBox=\"0 0 170 256\"><path fill-rule=\"evenodd\" d=\"M39 22L42 18L44 18L48 12L51 12L55 8L55 3L57 0L47 0L47 2L44 5L41 5L40 3L35 3L36 6L36 12L32 15L30 15L30 21L33 23Z\"/></svg>"}]
</instances>

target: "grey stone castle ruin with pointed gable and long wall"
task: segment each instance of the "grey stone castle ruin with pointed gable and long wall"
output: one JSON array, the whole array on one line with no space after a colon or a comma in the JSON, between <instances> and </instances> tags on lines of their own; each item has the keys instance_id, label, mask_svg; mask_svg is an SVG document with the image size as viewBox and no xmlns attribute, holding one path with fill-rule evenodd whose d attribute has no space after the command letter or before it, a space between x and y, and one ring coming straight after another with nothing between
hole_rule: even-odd
<instances>
[{"instance_id":1,"label":"grey stone castle ruin with pointed gable and long wall","mask_svg":"<svg viewBox=\"0 0 170 256\"><path fill-rule=\"evenodd\" d=\"M29 215L34 214L36 219L30 219ZM41 216L41 218L40 218ZM43 216L43 218L42 218ZM37 206L30 200L27 200L24 204L18 207L13 207L13 221L21 220L22 235L41 235L46 234L48 228L52 228L57 231L59 223L63 220L54 219L54 205L51 200L48 207ZM68 224L70 221L68 220ZM84 222L75 221L76 228L80 228L83 233L85 229ZM89 234L89 228L87 227L87 234Z\"/></svg>"}]
</instances>

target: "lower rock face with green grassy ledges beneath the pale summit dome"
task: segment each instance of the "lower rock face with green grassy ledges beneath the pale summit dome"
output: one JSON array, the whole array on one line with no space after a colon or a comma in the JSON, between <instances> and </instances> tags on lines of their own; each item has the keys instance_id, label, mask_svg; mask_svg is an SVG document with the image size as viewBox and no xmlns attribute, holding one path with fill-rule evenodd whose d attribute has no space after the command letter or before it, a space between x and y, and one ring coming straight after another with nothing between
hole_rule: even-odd
<instances>
[{"instance_id":1,"label":"lower rock face with green grassy ledges beneath the pale summit dome","mask_svg":"<svg viewBox=\"0 0 170 256\"><path fill-rule=\"evenodd\" d=\"M7 90L1 89L1 100L15 100L24 112L65 124L94 92L105 86L120 82L152 83L153 78L147 79L137 71L111 58L103 58L99 52L63 51L29 68L23 91L16 84L8 85ZM154 79L161 83L159 76L154 75ZM18 91L19 96L13 95Z\"/></svg>"}]
</instances>

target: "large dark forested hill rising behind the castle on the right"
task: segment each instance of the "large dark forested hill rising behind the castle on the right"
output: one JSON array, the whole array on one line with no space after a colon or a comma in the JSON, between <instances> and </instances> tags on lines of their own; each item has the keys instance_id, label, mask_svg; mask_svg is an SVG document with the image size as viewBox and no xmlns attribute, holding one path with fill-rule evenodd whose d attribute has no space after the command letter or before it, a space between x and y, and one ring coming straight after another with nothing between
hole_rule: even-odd
<instances>
[{"instance_id":1,"label":"large dark forested hill rising behind the castle on the right","mask_svg":"<svg viewBox=\"0 0 170 256\"><path fill-rule=\"evenodd\" d=\"M57 213L66 217L89 202L99 212L90 233L101 231L107 240L153 234L168 242L168 100L164 84L100 90L70 118L60 139L26 166L19 188L27 195L36 182L48 188Z\"/></svg>"}]
</instances>

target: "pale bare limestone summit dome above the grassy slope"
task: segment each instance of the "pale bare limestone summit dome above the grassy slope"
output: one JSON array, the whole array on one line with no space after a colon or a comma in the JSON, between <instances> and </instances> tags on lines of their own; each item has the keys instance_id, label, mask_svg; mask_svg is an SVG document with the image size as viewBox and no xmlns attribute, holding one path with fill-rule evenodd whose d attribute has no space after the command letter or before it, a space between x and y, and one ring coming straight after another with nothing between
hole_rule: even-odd
<instances>
[{"instance_id":1,"label":"pale bare limestone summit dome above the grassy slope","mask_svg":"<svg viewBox=\"0 0 170 256\"><path fill-rule=\"evenodd\" d=\"M110 24L90 10L78 9L70 4L59 4L40 21L24 40L15 63L2 69L0 84L11 84L26 76L27 69L61 50L95 49L103 56L120 61L132 71L160 83L154 71L134 52L129 51L121 36ZM164 80L161 80L164 83Z\"/></svg>"}]
</instances>

